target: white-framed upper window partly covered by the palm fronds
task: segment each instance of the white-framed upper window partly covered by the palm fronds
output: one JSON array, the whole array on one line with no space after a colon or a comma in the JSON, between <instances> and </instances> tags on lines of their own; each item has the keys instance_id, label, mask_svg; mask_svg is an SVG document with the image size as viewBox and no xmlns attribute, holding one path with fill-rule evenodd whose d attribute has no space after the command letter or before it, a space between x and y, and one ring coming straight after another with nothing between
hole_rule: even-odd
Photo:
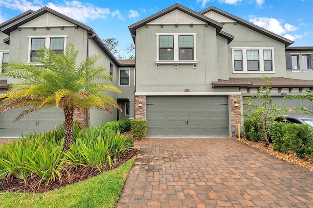
<instances>
[{"instance_id":1,"label":"white-framed upper window partly covered by the palm fronds","mask_svg":"<svg viewBox=\"0 0 313 208\"><path fill-rule=\"evenodd\" d=\"M67 44L67 35L53 36L28 36L28 62L38 56L36 50L45 46L56 54L62 54Z\"/></svg>"}]
</instances>

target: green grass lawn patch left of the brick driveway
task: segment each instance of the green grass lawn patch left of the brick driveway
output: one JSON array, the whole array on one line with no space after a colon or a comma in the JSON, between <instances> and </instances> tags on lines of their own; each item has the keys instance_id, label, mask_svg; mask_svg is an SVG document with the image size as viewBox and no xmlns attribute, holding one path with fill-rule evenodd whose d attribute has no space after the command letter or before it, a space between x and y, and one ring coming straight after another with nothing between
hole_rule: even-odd
<instances>
[{"instance_id":1,"label":"green grass lawn patch left of the brick driveway","mask_svg":"<svg viewBox=\"0 0 313 208\"><path fill-rule=\"evenodd\" d=\"M114 208L133 164L46 193L0 193L0 208Z\"/></svg>"}]
</instances>

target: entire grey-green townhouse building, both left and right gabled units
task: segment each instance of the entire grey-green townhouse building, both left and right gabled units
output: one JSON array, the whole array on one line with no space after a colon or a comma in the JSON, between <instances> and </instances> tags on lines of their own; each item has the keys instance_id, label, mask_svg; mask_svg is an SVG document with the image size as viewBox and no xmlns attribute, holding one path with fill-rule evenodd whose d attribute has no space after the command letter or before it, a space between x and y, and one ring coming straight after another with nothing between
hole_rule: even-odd
<instances>
[{"instance_id":1,"label":"entire grey-green townhouse building, both left and right gabled units","mask_svg":"<svg viewBox=\"0 0 313 208\"><path fill-rule=\"evenodd\" d=\"M305 100L283 97L313 90L313 46L291 47L292 41L215 7L198 13L174 4L129 30L136 60L116 60L87 25L47 7L27 11L0 24L1 62L30 62L34 40L46 45L63 40L60 50L73 42L81 59L100 54L99 64L122 90L112 96L124 111L114 111L114 117L76 112L76 119L90 118L90 125L146 119L149 137L232 136L242 123L245 97L257 92L263 76L272 79L274 103L312 109ZM0 90L16 82L1 79ZM58 109L50 109L13 124L17 113L0 114L0 137L49 129L64 119Z\"/></svg>"}]
</instances>

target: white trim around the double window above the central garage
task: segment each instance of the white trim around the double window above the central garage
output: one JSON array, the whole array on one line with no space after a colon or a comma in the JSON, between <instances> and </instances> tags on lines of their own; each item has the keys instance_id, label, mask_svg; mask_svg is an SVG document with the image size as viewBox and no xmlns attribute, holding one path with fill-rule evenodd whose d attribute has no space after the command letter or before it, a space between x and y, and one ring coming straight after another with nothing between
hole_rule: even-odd
<instances>
[{"instance_id":1,"label":"white trim around the double window above the central garage","mask_svg":"<svg viewBox=\"0 0 313 208\"><path fill-rule=\"evenodd\" d=\"M159 36L173 36L174 60L159 60ZM193 36L193 60L179 60L179 36ZM197 33L156 33L156 63L198 63L196 36Z\"/></svg>"}]
</instances>

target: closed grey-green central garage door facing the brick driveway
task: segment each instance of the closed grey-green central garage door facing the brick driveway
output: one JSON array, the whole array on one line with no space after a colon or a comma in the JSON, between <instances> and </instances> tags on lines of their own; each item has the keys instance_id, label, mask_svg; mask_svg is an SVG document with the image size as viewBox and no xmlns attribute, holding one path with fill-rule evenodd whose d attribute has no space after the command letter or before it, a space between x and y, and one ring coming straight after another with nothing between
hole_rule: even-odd
<instances>
[{"instance_id":1,"label":"closed grey-green central garage door facing the brick driveway","mask_svg":"<svg viewBox=\"0 0 313 208\"><path fill-rule=\"evenodd\" d=\"M228 137L227 96L146 97L148 137Z\"/></svg>"}]
</instances>

